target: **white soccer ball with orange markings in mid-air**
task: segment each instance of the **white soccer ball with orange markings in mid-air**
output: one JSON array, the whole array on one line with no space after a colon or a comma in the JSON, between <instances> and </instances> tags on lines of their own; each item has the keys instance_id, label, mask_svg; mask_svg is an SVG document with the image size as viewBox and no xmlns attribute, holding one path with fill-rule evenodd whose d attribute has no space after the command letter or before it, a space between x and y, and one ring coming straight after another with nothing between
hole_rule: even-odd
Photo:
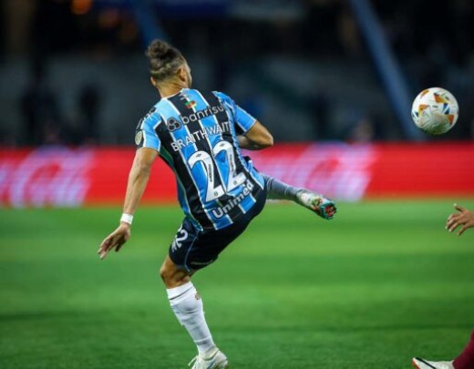
<instances>
[{"instance_id":1,"label":"white soccer ball with orange markings in mid-air","mask_svg":"<svg viewBox=\"0 0 474 369\"><path fill-rule=\"evenodd\" d=\"M456 98L441 87L427 88L413 101L411 118L422 131L442 135L453 128L459 117Z\"/></svg>"}]
</instances>

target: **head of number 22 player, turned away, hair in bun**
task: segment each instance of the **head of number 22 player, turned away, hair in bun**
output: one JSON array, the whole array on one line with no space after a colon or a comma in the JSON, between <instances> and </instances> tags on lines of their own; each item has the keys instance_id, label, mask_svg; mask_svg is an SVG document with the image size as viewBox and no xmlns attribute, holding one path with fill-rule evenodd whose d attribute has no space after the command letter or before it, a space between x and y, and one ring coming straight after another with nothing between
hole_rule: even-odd
<instances>
[{"instance_id":1,"label":"head of number 22 player, turned away, hair in bun","mask_svg":"<svg viewBox=\"0 0 474 369\"><path fill-rule=\"evenodd\" d=\"M146 55L149 57L149 73L153 86L175 84L191 87L191 68L176 47L165 41L154 40L149 44Z\"/></svg>"}]
</instances>

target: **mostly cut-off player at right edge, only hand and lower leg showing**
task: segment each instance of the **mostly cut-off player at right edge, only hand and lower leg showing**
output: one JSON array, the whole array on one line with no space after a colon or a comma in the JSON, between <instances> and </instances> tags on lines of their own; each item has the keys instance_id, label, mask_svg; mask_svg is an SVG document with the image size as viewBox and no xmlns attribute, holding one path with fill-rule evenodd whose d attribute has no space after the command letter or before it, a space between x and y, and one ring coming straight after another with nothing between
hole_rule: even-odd
<instances>
[{"instance_id":1,"label":"mostly cut-off player at right edge, only hand and lower leg showing","mask_svg":"<svg viewBox=\"0 0 474 369\"><path fill-rule=\"evenodd\" d=\"M458 204L454 204L454 208L458 212L448 216L446 229L452 232L460 227L458 232L460 236L467 229L474 228L474 211L467 210ZM431 362L415 357L412 362L417 369L474 369L474 331L470 335L468 345L456 359L449 362Z\"/></svg>"}]
</instances>

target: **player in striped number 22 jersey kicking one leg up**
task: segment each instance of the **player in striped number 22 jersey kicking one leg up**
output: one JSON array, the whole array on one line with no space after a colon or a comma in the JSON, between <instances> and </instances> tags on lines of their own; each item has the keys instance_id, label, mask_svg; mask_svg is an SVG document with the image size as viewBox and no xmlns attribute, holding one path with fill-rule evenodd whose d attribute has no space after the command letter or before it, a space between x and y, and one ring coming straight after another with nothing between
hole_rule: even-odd
<instances>
[{"instance_id":1,"label":"player in striped number 22 jersey kicking one leg up","mask_svg":"<svg viewBox=\"0 0 474 369\"><path fill-rule=\"evenodd\" d=\"M196 343L193 369L228 367L204 319L194 272L216 261L262 210L266 198L287 199L325 219L335 204L310 190L295 189L265 176L241 149L273 145L263 125L220 92L191 89L191 69L180 51L155 40L148 48L151 84L160 102L139 121L138 146L129 173L123 214L117 230L100 244L104 259L129 240L130 225L147 186L153 161L160 156L175 173L185 217L160 269L172 311Z\"/></svg>"}]
</instances>

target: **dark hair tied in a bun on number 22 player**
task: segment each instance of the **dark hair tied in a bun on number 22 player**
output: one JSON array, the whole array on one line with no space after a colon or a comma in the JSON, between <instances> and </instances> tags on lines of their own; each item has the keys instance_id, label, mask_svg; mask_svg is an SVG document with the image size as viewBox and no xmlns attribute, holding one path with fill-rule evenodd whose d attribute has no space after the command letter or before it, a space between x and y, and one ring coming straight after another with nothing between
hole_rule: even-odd
<instances>
[{"instance_id":1,"label":"dark hair tied in a bun on number 22 player","mask_svg":"<svg viewBox=\"0 0 474 369\"><path fill-rule=\"evenodd\" d=\"M145 54L149 57L149 73L157 82L174 76L185 62L180 50L161 40L153 40Z\"/></svg>"}]
</instances>

